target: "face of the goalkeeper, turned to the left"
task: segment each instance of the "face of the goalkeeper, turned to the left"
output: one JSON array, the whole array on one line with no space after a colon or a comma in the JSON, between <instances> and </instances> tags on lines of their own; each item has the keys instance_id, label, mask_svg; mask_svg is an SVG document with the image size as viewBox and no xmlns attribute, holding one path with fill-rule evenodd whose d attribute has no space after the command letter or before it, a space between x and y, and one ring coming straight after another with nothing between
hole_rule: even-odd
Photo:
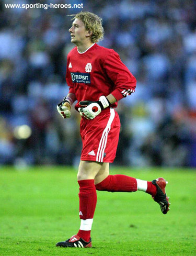
<instances>
[{"instance_id":1,"label":"face of the goalkeeper, turned to the left","mask_svg":"<svg viewBox=\"0 0 196 256\"><path fill-rule=\"evenodd\" d=\"M76 46L78 44L83 44L87 39L86 36L88 36L88 31L86 30L84 23L77 18L74 20L69 32L71 34L71 42L75 43Z\"/></svg>"}]
</instances>

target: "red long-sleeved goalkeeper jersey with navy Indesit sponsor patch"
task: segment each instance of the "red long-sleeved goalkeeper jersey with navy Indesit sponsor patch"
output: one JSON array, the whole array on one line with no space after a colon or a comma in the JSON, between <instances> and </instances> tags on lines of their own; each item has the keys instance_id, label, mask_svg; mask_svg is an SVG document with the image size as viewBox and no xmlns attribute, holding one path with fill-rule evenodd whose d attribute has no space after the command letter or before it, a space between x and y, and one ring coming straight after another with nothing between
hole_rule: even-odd
<instances>
[{"instance_id":1,"label":"red long-sleeved goalkeeper jersey with navy Indesit sponsor patch","mask_svg":"<svg viewBox=\"0 0 196 256\"><path fill-rule=\"evenodd\" d=\"M119 54L112 49L93 44L79 53L74 47L67 55L66 82L69 93L80 101L98 101L100 96L110 93L119 101L124 90L135 90L136 79L122 63ZM114 103L111 107L117 107Z\"/></svg>"}]
</instances>

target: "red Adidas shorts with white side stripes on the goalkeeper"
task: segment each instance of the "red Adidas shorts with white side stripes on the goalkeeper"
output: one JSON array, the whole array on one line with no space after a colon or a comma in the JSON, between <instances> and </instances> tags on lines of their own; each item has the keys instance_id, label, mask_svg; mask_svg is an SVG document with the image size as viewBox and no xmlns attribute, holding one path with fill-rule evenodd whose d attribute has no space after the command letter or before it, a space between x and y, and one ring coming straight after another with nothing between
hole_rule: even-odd
<instances>
[{"instance_id":1,"label":"red Adidas shorts with white side stripes on the goalkeeper","mask_svg":"<svg viewBox=\"0 0 196 256\"><path fill-rule=\"evenodd\" d=\"M120 119L113 109L103 110L93 120L82 117L80 135L83 141L81 160L112 163L119 141Z\"/></svg>"}]
</instances>

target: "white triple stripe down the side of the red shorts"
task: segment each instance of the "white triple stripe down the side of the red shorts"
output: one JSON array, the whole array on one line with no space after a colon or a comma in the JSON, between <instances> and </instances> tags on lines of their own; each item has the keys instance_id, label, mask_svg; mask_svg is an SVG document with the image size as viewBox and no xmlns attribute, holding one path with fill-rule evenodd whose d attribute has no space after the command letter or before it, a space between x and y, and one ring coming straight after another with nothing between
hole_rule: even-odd
<instances>
[{"instance_id":1,"label":"white triple stripe down the side of the red shorts","mask_svg":"<svg viewBox=\"0 0 196 256\"><path fill-rule=\"evenodd\" d=\"M99 142L99 148L97 151L97 158L96 158L97 162L103 162L104 151L106 149L106 144L107 144L107 139L108 139L108 133L111 129L111 124L114 119L114 116L115 116L114 109L110 108L110 118L108 120L108 124L107 124L106 128L103 130L101 140Z\"/></svg>"}]
</instances>

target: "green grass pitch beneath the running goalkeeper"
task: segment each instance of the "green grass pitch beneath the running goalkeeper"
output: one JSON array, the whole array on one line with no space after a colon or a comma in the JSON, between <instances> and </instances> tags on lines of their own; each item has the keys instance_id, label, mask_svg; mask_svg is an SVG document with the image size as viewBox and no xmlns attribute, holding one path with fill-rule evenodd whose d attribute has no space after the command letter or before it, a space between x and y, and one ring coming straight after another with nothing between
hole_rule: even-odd
<instances>
[{"instance_id":1,"label":"green grass pitch beneath the running goalkeeper","mask_svg":"<svg viewBox=\"0 0 196 256\"><path fill-rule=\"evenodd\" d=\"M144 192L98 192L93 248L57 248L80 225L76 171L67 167L0 170L0 255L196 255L195 184L190 169L112 168L143 180L168 180L167 215Z\"/></svg>"}]
</instances>

